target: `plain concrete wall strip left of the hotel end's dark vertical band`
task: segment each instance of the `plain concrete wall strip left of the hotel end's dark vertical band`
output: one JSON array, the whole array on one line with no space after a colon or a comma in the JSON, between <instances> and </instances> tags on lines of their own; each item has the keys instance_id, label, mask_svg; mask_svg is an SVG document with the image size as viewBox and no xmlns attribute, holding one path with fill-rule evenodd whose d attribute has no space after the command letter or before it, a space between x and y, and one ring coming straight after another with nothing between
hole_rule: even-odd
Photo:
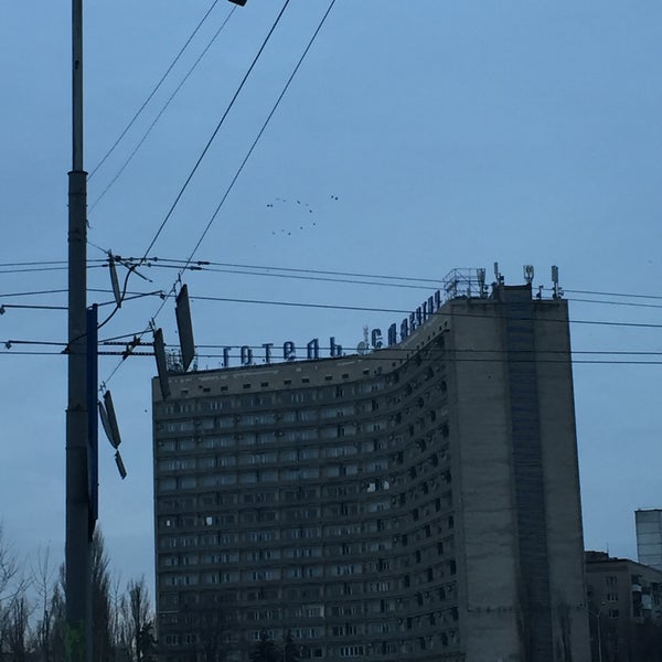
<instances>
[{"instance_id":1,"label":"plain concrete wall strip left of the hotel end's dark vertical band","mask_svg":"<svg viewBox=\"0 0 662 662\"><path fill-rule=\"evenodd\" d=\"M451 303L451 425L467 660L520 660L506 362L491 301ZM489 642L489 643L488 643Z\"/></svg>"}]
</instances>

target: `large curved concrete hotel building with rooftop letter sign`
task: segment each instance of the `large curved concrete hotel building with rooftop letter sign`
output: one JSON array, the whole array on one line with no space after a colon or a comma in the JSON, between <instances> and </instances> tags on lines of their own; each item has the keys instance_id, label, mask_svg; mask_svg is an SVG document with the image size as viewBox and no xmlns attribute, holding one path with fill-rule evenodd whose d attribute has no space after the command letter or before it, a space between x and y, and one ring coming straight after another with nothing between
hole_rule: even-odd
<instances>
[{"instance_id":1,"label":"large curved concrete hotel building with rooftop letter sign","mask_svg":"<svg viewBox=\"0 0 662 662\"><path fill-rule=\"evenodd\" d=\"M356 354L154 380L166 660L588 661L567 303L457 285Z\"/></svg>"}]
</instances>

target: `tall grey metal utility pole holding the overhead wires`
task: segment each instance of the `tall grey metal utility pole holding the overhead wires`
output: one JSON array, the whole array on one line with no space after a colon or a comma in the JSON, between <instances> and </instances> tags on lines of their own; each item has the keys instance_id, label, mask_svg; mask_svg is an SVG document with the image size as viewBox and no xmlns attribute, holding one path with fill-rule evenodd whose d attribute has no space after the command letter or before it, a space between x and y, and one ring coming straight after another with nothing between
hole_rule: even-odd
<instances>
[{"instance_id":1,"label":"tall grey metal utility pole holding the overhead wires","mask_svg":"<svg viewBox=\"0 0 662 662\"><path fill-rule=\"evenodd\" d=\"M72 0L73 164L68 173L66 662L92 660L87 414L87 173L83 169L83 0Z\"/></svg>"}]
</instances>

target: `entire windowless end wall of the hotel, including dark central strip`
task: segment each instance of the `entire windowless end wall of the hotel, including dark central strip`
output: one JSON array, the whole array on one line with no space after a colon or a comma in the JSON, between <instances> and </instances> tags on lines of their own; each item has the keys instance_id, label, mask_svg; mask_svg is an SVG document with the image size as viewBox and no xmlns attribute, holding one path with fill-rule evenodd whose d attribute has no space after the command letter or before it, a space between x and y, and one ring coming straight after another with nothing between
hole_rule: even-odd
<instances>
[{"instance_id":1,"label":"entire windowless end wall of the hotel, including dark central strip","mask_svg":"<svg viewBox=\"0 0 662 662\"><path fill-rule=\"evenodd\" d=\"M519 296L451 303L465 650L588 662L567 307Z\"/></svg>"}]
</instances>

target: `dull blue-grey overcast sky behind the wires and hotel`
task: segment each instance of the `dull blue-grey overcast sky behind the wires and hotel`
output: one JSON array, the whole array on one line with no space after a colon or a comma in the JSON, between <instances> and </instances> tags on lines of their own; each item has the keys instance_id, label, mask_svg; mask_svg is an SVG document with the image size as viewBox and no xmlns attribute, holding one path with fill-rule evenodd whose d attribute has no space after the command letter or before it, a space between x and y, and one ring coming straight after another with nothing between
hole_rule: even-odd
<instances>
[{"instance_id":1,"label":"dull blue-grey overcast sky behind the wires and hotel","mask_svg":"<svg viewBox=\"0 0 662 662\"><path fill-rule=\"evenodd\" d=\"M88 171L145 102L212 0L85 2ZM291 0L181 202L150 250L185 259L220 203L328 0ZM89 181L106 190L233 9L220 0L126 138ZM141 256L282 7L237 8L135 158L89 212L89 241ZM71 10L0 3L0 303L65 306L66 271L6 266L66 259L71 169ZM585 540L636 558L633 511L662 506L662 6L654 0L338 0L196 258L441 279L499 260L506 282L560 269L570 299ZM89 246L90 260L104 254ZM92 263L98 265L98 263ZM58 265L55 265L58 266ZM169 290L177 271L143 268L132 291ZM193 296L412 309L436 289L196 271ZM108 289L89 269L89 287ZM18 295L21 296L10 296ZM90 292L89 301L110 295ZM588 300L588 301L587 301ZM602 303L595 302L604 301ZM650 307L616 305L637 303ZM160 301L127 302L102 338L147 328ZM201 344L345 346L398 316L193 300ZM109 311L106 306L104 310ZM157 321L177 342L173 305ZM608 322L596 324L595 322ZM0 520L23 557L64 544L66 314L0 317ZM601 351L606 354L584 354ZM643 354L617 354L642 352ZM581 361L602 361L587 364ZM610 362L620 361L622 364ZM102 357L107 380L117 357ZM217 367L218 359L201 359ZM102 440L100 525L124 578L153 575L150 378L131 357L108 382L129 471Z\"/></svg>"}]
</instances>

